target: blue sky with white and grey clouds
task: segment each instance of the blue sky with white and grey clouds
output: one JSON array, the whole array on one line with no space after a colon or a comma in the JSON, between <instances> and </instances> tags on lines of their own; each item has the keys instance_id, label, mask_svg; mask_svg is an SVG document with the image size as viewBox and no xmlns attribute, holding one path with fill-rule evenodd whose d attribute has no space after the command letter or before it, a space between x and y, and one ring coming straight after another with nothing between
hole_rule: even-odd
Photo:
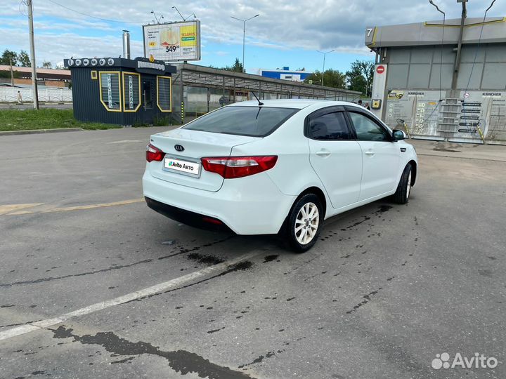
<instances>
[{"instance_id":1,"label":"blue sky with white and grey clouds","mask_svg":"<svg viewBox=\"0 0 506 379\"><path fill-rule=\"evenodd\" d=\"M27 18L22 14L26 13L26 7L19 0L6 1L0 10L0 50L28 51ZM434 2L446 11L448 18L460 16L461 8L456 0ZM491 0L470 0L469 17L483 18L490 3ZM258 18L247 22L246 28L245 66L250 73L283 66L321 70L323 56L316 50L332 49L335 52L327 54L325 68L344 72L353 60L373 59L363 44L366 27L437 20L440 16L424 0L315 0L311 3L301 0L245 3L235 0L191 3L34 0L33 4L38 65L43 60L56 65L72 55L119 56L122 29L131 31L132 55L142 55L141 25L153 20L152 10L158 17L163 14L164 21L181 20L172 6L177 6L184 16L195 13L202 22L202 60L197 64L232 65L235 58L242 60L242 22L231 16L249 18L259 13ZM505 13L506 0L497 0L490 15Z\"/></svg>"}]
</instances>

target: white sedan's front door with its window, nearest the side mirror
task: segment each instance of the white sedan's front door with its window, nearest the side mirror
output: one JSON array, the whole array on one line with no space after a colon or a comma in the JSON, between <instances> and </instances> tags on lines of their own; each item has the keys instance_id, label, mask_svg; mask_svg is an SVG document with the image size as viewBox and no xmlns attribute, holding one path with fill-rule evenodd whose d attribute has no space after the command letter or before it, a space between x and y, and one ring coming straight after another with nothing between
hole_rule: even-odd
<instances>
[{"instance_id":1,"label":"white sedan's front door with its window, nearest the side mirror","mask_svg":"<svg viewBox=\"0 0 506 379\"><path fill-rule=\"evenodd\" d=\"M362 182L359 201L393 191L397 185L400 149L390 132L368 112L348 108L349 118L362 149Z\"/></svg>"}]
</instances>

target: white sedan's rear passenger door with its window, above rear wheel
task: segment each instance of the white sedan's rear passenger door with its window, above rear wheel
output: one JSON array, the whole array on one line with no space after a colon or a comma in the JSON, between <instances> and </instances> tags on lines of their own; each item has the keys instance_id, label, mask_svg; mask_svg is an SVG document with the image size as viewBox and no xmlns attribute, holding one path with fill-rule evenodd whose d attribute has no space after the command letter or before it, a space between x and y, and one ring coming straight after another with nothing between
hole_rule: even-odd
<instances>
[{"instance_id":1,"label":"white sedan's rear passenger door with its window, above rear wheel","mask_svg":"<svg viewBox=\"0 0 506 379\"><path fill-rule=\"evenodd\" d=\"M358 201L362 175L362 151L354 140L343 107L327 107L306 119L310 162L333 208Z\"/></svg>"}]
</instances>

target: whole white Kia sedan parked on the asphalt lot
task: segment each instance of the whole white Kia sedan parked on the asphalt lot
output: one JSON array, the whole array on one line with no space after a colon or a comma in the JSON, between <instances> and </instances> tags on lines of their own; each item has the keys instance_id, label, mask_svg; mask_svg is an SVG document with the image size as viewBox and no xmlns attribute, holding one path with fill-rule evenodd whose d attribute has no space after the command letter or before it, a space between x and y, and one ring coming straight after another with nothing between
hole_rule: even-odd
<instances>
[{"instance_id":1,"label":"whole white Kia sedan parked on the asphalt lot","mask_svg":"<svg viewBox=\"0 0 506 379\"><path fill-rule=\"evenodd\" d=\"M188 225L280 234L303 252L333 215L408 202L418 161L405 137L350 102L238 102L152 135L144 196Z\"/></svg>"}]
</instances>

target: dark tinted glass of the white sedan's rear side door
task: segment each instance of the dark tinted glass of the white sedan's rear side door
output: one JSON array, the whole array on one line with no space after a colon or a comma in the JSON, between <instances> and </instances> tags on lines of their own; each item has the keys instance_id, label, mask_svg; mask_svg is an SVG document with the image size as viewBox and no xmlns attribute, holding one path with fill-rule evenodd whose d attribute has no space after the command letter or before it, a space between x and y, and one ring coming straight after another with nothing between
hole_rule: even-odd
<instances>
[{"instance_id":1,"label":"dark tinted glass of the white sedan's rear side door","mask_svg":"<svg viewBox=\"0 0 506 379\"><path fill-rule=\"evenodd\" d=\"M309 138L313 140L351 140L344 112L332 112L309 118Z\"/></svg>"}]
</instances>

